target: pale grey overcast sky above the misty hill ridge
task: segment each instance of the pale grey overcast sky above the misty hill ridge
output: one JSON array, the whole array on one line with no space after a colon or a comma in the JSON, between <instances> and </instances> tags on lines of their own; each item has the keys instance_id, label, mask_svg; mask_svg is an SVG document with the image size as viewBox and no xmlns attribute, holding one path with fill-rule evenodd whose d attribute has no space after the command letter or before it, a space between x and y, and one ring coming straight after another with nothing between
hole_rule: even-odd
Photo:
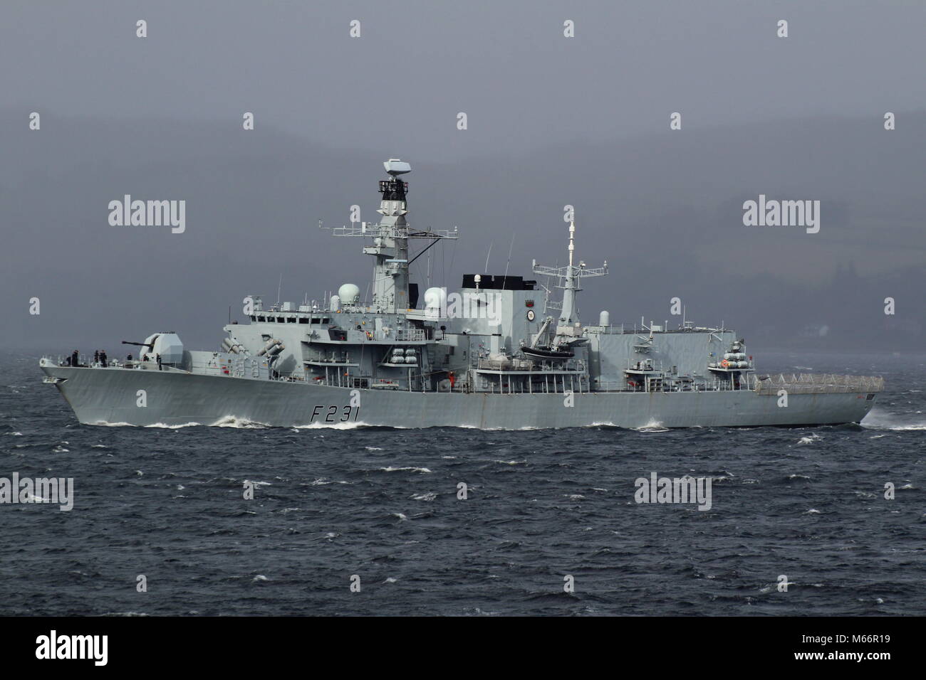
<instances>
[{"instance_id":1,"label":"pale grey overcast sky above the misty hill ridge","mask_svg":"<svg viewBox=\"0 0 926 680\"><path fill-rule=\"evenodd\" d=\"M421 159L632 138L665 130L672 111L698 130L879 116L926 95L916 0L6 0L2 11L14 109L206 121L249 110L309 140Z\"/></svg>"}]
</instances>

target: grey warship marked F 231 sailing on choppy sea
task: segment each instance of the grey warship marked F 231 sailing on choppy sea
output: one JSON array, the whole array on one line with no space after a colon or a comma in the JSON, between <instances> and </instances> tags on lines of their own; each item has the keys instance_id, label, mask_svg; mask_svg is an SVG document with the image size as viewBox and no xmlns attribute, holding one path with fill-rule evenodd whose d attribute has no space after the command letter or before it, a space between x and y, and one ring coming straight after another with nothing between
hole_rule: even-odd
<instances>
[{"instance_id":1,"label":"grey warship marked F 231 sailing on choppy sea","mask_svg":"<svg viewBox=\"0 0 926 680\"><path fill-rule=\"evenodd\" d=\"M574 222L568 265L533 262L545 284L466 275L419 300L409 266L457 229L413 229L411 167L384 166L379 222L331 229L373 258L369 299L350 283L320 303L249 295L247 322L225 326L215 351L156 332L130 343L133 361L44 356L44 381L82 424L161 427L809 426L857 423L883 389L881 377L759 375L729 328L612 325L607 312L583 325L582 280L607 262L577 262Z\"/></svg>"}]
</instances>

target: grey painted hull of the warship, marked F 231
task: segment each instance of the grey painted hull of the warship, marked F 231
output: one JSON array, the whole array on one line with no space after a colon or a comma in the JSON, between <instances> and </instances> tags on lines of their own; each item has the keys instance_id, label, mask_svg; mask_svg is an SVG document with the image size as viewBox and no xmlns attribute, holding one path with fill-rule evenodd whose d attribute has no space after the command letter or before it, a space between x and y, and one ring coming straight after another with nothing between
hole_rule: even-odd
<instances>
[{"instance_id":1,"label":"grey painted hull of the warship, marked F 231","mask_svg":"<svg viewBox=\"0 0 926 680\"><path fill-rule=\"evenodd\" d=\"M575 394L351 390L304 382L120 368L43 365L81 423L271 427L744 427L860 422L864 392L792 394L788 406L751 390ZM146 405L139 406L144 389ZM352 392L354 404L352 405ZM357 405L357 399L359 405Z\"/></svg>"}]
</instances>

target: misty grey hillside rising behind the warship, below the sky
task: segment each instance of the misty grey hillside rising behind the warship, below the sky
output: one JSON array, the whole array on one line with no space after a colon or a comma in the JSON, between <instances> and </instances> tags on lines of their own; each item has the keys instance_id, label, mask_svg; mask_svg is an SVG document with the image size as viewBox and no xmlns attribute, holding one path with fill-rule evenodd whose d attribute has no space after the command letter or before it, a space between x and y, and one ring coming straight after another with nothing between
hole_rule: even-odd
<instances>
[{"instance_id":1,"label":"misty grey hillside rising behind the warship, below the sky","mask_svg":"<svg viewBox=\"0 0 926 680\"><path fill-rule=\"evenodd\" d=\"M0 111L0 313L7 347L115 348L157 329L212 347L245 294L320 300L347 281L364 291L367 256L340 226L359 204L375 220L382 160L401 148L332 148L238 120L102 120ZM563 206L576 210L577 253L607 259L582 314L594 322L669 319L679 297L698 325L741 331L750 349L921 350L926 326L926 115L785 120L667 130L626 142L554 144L525 155L409 157L409 220L459 226L432 249L432 285L462 274L530 275L564 262ZM315 141L310 141L308 138ZM186 201L186 231L110 227L107 204ZM821 229L743 225L758 194L821 202ZM513 243L512 243L513 237ZM508 262L509 248L511 252ZM428 258L417 280L427 285ZM42 314L28 314L31 297ZM883 300L896 300L896 315ZM240 316L240 314L238 314Z\"/></svg>"}]
</instances>

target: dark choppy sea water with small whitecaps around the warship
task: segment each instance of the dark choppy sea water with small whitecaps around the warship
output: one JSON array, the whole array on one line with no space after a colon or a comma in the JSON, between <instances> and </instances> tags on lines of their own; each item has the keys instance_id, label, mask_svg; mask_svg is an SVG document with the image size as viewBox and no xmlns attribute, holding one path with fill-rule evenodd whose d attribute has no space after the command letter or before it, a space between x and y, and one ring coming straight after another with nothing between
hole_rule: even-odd
<instances>
[{"instance_id":1,"label":"dark choppy sea water with small whitecaps around the warship","mask_svg":"<svg viewBox=\"0 0 926 680\"><path fill-rule=\"evenodd\" d=\"M926 356L762 359L888 391L861 427L88 427L0 356L0 476L75 496L0 505L0 614L926 613ZM712 508L637 504L653 471Z\"/></svg>"}]
</instances>

